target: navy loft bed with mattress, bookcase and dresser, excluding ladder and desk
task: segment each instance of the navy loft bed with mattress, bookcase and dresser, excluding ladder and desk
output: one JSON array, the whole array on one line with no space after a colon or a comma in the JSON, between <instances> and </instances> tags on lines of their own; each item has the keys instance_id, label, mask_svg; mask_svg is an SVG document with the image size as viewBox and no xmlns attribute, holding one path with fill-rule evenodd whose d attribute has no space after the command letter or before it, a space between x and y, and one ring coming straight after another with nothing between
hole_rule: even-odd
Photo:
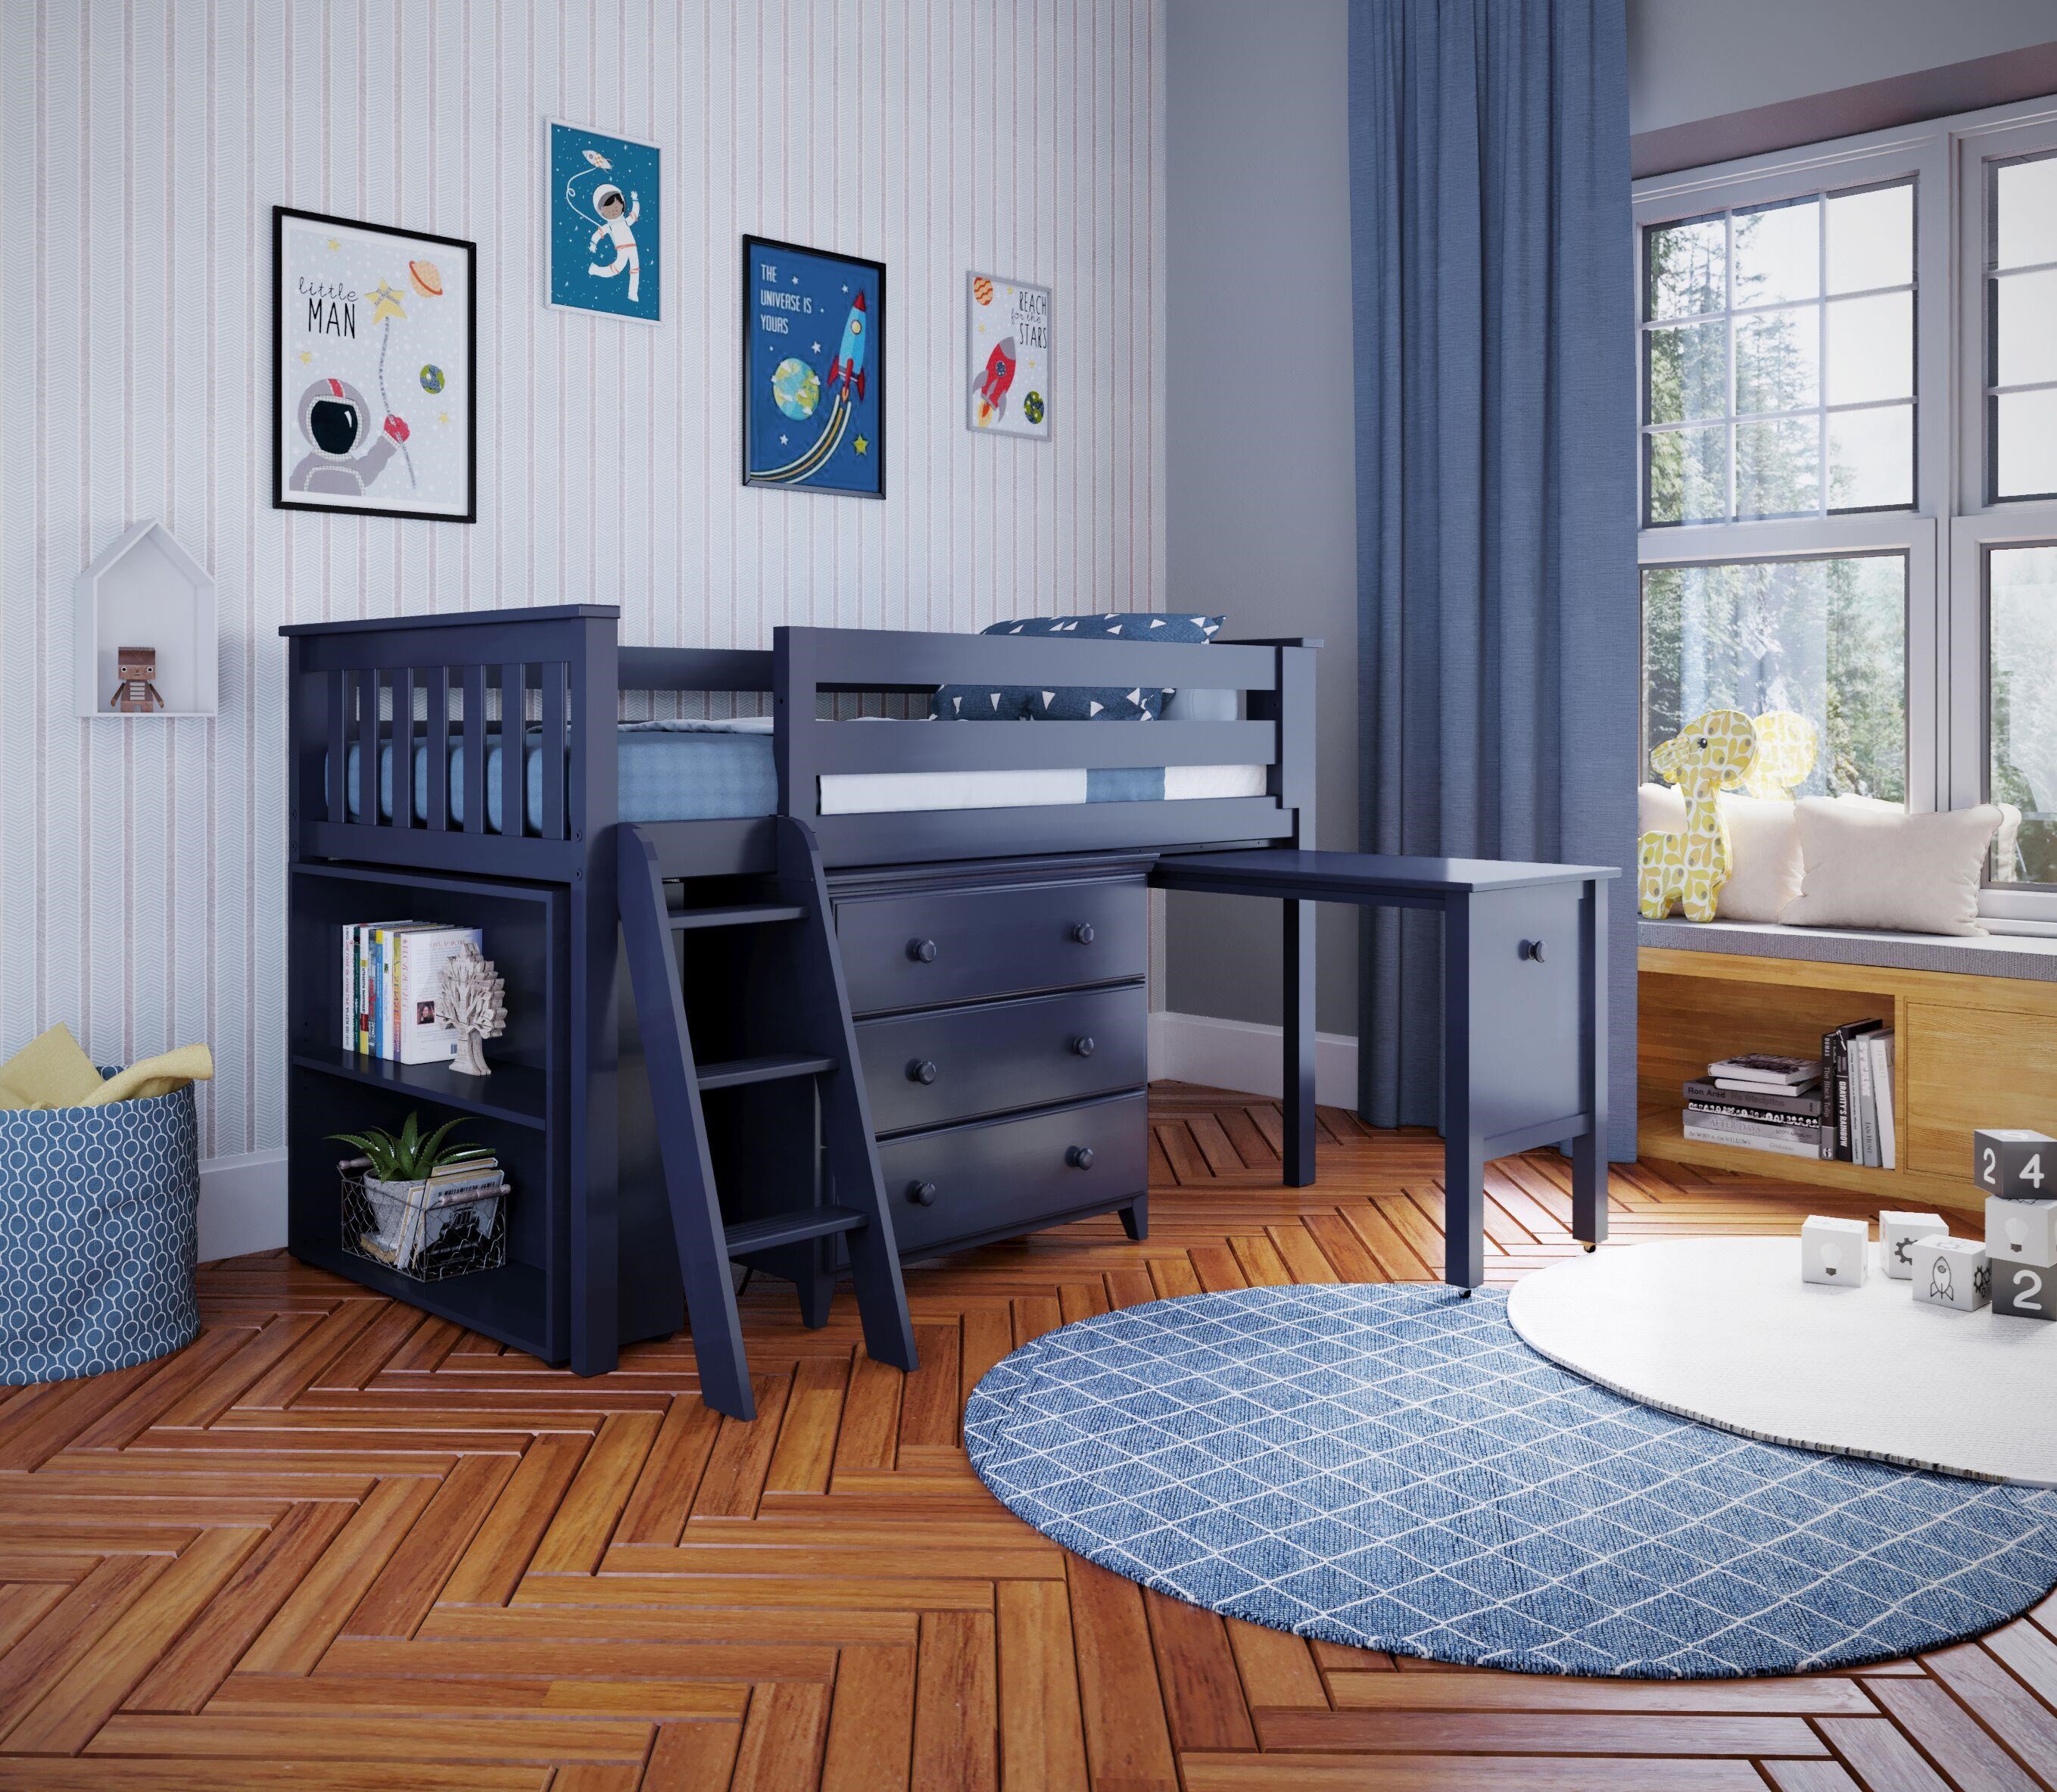
<instances>
[{"instance_id":1,"label":"navy loft bed with mattress, bookcase and dresser, excluding ladder and desk","mask_svg":"<svg viewBox=\"0 0 2057 1792\"><path fill-rule=\"evenodd\" d=\"M909 1191L934 1187L930 1162L1006 1185L1010 1154L1061 1127L1098 1127L1109 1142L1090 1197L1043 1189L1028 1162L1018 1199L1002 1187L989 1210L948 1220L905 1210L901 1255L1080 1212L1117 1210L1140 1232L1142 885L1166 852L1312 844L1310 644L780 628L771 650L708 650L621 646L617 625L613 607L572 605L282 630L292 1251L580 1372L609 1368L623 1341L679 1327L671 1222L652 1195L662 1119L648 1099L621 953L617 874L629 831L673 909L747 899L780 874L782 841L810 835L843 940L858 1049L878 1088L878 1154L889 1173L907 1171ZM926 710L944 685L983 683L1238 695L1210 710L1234 720L1172 720L1172 700L1148 724L825 714L850 697ZM623 691L769 697L769 718L623 724ZM1096 922L1063 920L1074 911ZM337 1043L339 928L399 916L483 928L508 985L494 1076ZM1068 957L1045 963L1035 940L1059 922ZM907 969L899 948L909 928L944 938L940 969ZM905 938L909 953L917 944L936 957L934 938ZM710 1029L747 1055L763 1006L751 957L708 957L732 961L728 981L716 965L697 1000ZM1086 1062L1092 1035L1072 1037L1084 1055L1061 1076L1041 1060L994 1055L1010 1027L1028 1039L1035 1025L1086 1025L1078 1016L1090 1014L1117 1037L1096 1064ZM932 1053L932 1039L959 1049L942 1078L948 1099L897 1078L889 1097L878 1064L897 1066L903 1047ZM930 1058L909 1064L909 1078L924 1066L934 1078ZM1082 1082L1088 1070L1096 1082ZM1010 1076L1018 1086L1000 1088ZM965 1092L973 1086L981 1092ZM738 1138L780 1132L763 1095L741 1103ZM418 1103L488 1123L510 1162L525 1197L508 1204L502 1267L418 1284L339 1249L327 1136L397 1125ZM743 1146L724 1150L734 1158ZM1084 1160L1094 1162L1090 1148ZM755 1177L767 1164L751 1158L749 1169ZM815 1171L800 1150L780 1173ZM800 1282L810 1317L825 1315L829 1251L786 1247L763 1261Z\"/></svg>"}]
</instances>

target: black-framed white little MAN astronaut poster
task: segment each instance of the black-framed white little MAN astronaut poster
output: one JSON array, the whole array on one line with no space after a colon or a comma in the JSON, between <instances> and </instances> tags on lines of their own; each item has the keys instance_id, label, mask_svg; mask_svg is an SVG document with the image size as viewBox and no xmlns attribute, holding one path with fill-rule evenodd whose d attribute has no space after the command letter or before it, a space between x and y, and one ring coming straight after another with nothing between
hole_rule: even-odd
<instances>
[{"instance_id":1,"label":"black-framed white little MAN astronaut poster","mask_svg":"<svg viewBox=\"0 0 2057 1792\"><path fill-rule=\"evenodd\" d=\"M272 502L477 521L475 249L272 208Z\"/></svg>"}]
</instances>

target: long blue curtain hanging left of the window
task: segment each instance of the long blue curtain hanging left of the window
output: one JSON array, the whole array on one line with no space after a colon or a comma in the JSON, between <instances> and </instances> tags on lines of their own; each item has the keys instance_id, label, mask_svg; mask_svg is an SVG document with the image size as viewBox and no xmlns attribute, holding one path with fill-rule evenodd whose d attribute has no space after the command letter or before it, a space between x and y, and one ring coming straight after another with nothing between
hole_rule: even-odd
<instances>
[{"instance_id":1,"label":"long blue curtain hanging left of the window","mask_svg":"<svg viewBox=\"0 0 2057 1792\"><path fill-rule=\"evenodd\" d=\"M1351 0L1366 852L1619 864L1635 1150L1635 304L1623 0ZM1432 918L1368 911L1362 1111L1440 1119Z\"/></svg>"}]
</instances>

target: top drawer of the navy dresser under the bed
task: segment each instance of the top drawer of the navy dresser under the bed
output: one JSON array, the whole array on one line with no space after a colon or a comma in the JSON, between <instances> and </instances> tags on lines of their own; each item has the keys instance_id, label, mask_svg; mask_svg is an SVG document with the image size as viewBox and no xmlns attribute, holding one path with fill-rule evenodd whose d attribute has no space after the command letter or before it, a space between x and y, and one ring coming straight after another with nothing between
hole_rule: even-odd
<instances>
[{"instance_id":1,"label":"top drawer of the navy dresser under the bed","mask_svg":"<svg viewBox=\"0 0 2057 1792\"><path fill-rule=\"evenodd\" d=\"M852 897L835 938L856 1014L1140 977L1142 879Z\"/></svg>"}]
</instances>

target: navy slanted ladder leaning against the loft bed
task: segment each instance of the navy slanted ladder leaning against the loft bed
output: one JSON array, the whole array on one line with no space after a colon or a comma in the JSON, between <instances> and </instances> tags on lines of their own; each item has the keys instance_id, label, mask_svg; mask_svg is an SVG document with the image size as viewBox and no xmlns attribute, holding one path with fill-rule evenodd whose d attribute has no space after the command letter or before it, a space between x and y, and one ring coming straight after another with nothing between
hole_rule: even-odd
<instances>
[{"instance_id":1,"label":"navy slanted ladder leaning against the loft bed","mask_svg":"<svg viewBox=\"0 0 2057 1792\"><path fill-rule=\"evenodd\" d=\"M874 1362L901 1370L915 1366L907 1290L901 1286L893 1218L878 1177L870 1103L858 1070L821 850L804 821L780 815L773 823L778 856L771 899L699 909L671 907L656 846L634 823L619 827L621 932L648 1058L664 1193L699 1366L699 1397L738 1420L755 1418L757 1405L728 1274L732 1259L751 1261L786 1251L784 1261L792 1261L792 1247L804 1247L808 1261L819 1267L798 1278L802 1317L808 1325L825 1325L827 1251L841 1237L850 1249L850 1278L856 1284L866 1352ZM778 1012L782 1033L792 1035L782 1041L790 1049L699 1064L685 1014L679 955L734 928L763 930L759 948L773 973L767 981L775 983L765 992L767 1012ZM790 1210L728 1224L714 1185L703 1101L720 1099L722 1090L786 1080L810 1080L815 1086L827 1199L817 1199L817 1189L808 1187L804 1199Z\"/></svg>"}]
</instances>

